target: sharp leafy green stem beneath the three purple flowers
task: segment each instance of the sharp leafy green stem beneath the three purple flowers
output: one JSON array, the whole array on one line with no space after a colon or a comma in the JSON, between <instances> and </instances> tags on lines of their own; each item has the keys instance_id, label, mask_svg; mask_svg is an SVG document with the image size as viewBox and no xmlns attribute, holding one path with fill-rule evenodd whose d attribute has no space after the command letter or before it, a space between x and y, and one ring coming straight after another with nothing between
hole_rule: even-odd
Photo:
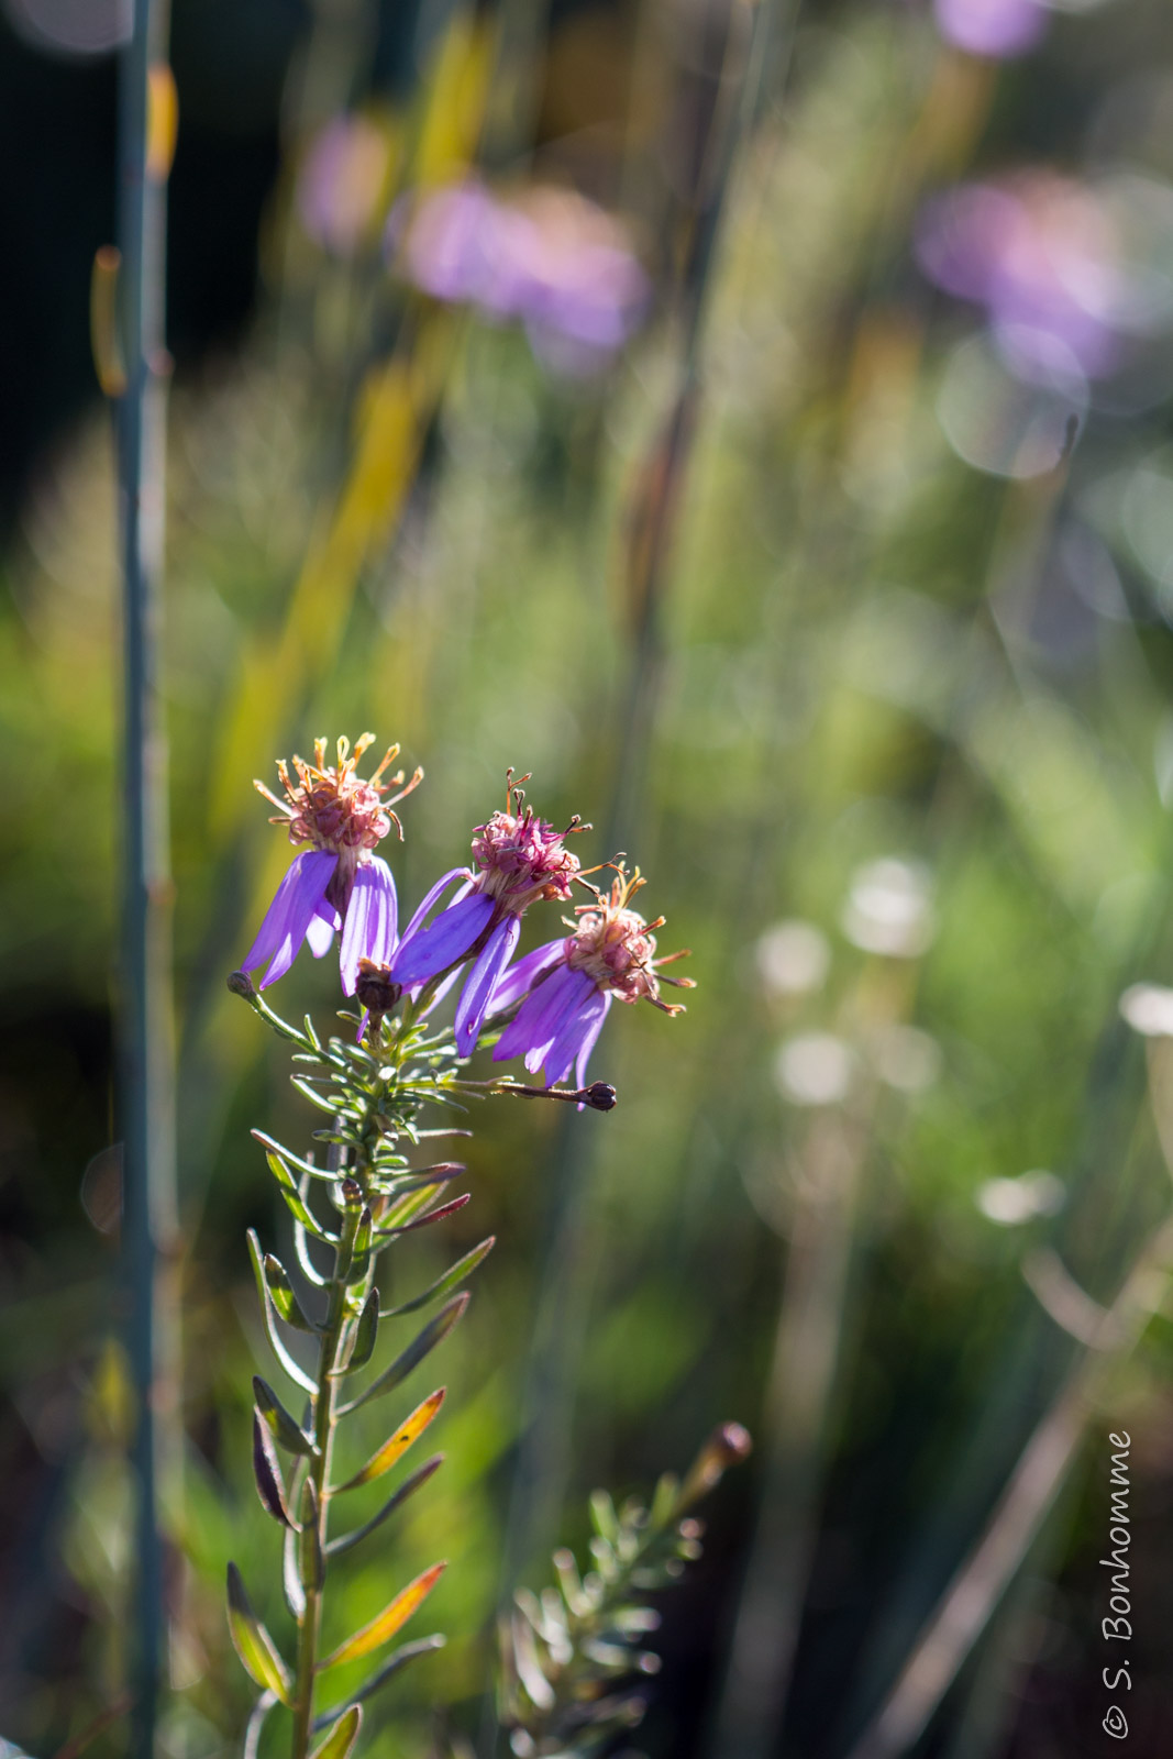
<instances>
[{"instance_id":1,"label":"sharp leafy green stem beneath the three purple flowers","mask_svg":"<svg viewBox=\"0 0 1173 1759\"><path fill-rule=\"evenodd\" d=\"M232 989L281 1038L297 1045L294 1061L299 1073L292 1077L294 1085L331 1117L329 1128L315 1131L315 1140L327 1145L325 1166L315 1164L313 1156L301 1157L262 1131L253 1131L294 1221L297 1268L310 1289L317 1291L313 1305L324 1310L318 1317L306 1312L285 1265L250 1233L269 1342L285 1374L306 1395L306 1405L299 1421L260 1376L253 1377L253 1474L262 1507L285 1529L281 1574L285 1601L297 1625L297 1653L292 1664L285 1660L253 1611L239 1571L229 1566L232 1641L262 1689L250 1719L246 1754L255 1754L266 1715L281 1703L294 1713L294 1759L306 1759L311 1736L317 1734L322 1740L315 1759L346 1759L359 1734L362 1703L408 1662L438 1648L443 1638L429 1636L396 1648L362 1683L320 1713L315 1710L317 1678L327 1669L383 1650L429 1595L445 1562L431 1564L376 1618L320 1657L327 1567L382 1529L427 1483L443 1463L443 1455L433 1455L419 1465L369 1520L336 1537L327 1536L329 1507L334 1497L348 1495L390 1472L431 1425L445 1391L438 1388L429 1393L366 1465L343 1483L331 1478L334 1432L341 1418L401 1386L452 1332L468 1305L468 1293L461 1291L461 1284L492 1251L494 1240L482 1240L422 1293L383 1310L376 1284L380 1256L404 1235L443 1221L468 1203L468 1196L445 1196L450 1180L463 1171L459 1163L443 1161L410 1170L403 1152L404 1143L448 1135L422 1131L419 1112L427 1101L447 1098L452 1103L452 1096L445 1094L457 1068L452 1036L447 1031L429 1036L408 1011L368 1029L361 1043L339 1038L322 1041L310 1018L304 1029L288 1025L241 974L232 978ZM352 1027L359 1024L355 1015L343 1018ZM313 1205L315 1194L325 1200L318 1208ZM331 1210L325 1221L322 1207ZM315 1249L322 1247L332 1254L327 1270L315 1263ZM434 1316L394 1360L366 1386L339 1398L345 1383L371 1365L380 1325L417 1314L436 1302L441 1305ZM308 1372L294 1358L281 1337L281 1325L317 1340L317 1372Z\"/></svg>"}]
</instances>

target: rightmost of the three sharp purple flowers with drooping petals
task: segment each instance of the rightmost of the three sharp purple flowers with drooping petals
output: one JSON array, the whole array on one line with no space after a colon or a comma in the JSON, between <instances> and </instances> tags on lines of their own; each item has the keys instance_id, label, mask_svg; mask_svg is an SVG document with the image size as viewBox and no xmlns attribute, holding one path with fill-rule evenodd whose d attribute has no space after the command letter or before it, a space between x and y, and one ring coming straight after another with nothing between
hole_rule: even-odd
<instances>
[{"instance_id":1,"label":"rightmost of the three sharp purple flowers with drooping petals","mask_svg":"<svg viewBox=\"0 0 1173 1759\"><path fill-rule=\"evenodd\" d=\"M582 1087L616 997L651 1001L663 1013L684 1011L679 1003L661 1001L659 983L693 989L691 978L661 978L658 967L686 955L656 959L652 929L659 929L665 918L645 922L630 908L642 885L638 869L626 874L619 867L608 897L600 894L594 904L579 906L573 934L538 946L505 973L489 1011L505 1013L517 1003L521 1008L492 1050L496 1062L524 1057L531 1075L545 1068L547 1087L575 1068L575 1082Z\"/></svg>"}]
</instances>

